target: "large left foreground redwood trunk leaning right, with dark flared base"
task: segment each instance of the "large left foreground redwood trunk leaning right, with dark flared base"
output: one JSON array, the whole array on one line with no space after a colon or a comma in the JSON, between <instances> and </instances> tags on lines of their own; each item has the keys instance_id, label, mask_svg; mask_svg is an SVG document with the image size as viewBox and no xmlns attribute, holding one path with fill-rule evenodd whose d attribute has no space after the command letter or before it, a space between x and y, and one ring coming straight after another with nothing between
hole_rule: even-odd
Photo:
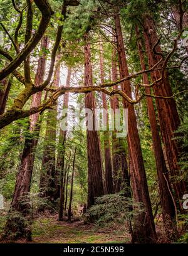
<instances>
[{"instance_id":1,"label":"large left foreground redwood trunk leaning right, with dark flared base","mask_svg":"<svg viewBox=\"0 0 188 256\"><path fill-rule=\"evenodd\" d=\"M48 47L48 38L46 36L43 37L41 41L41 49ZM46 54L39 57L38 60L38 68L35 77L35 85L38 86L43 82L44 79L44 71L46 66ZM31 107L37 107L41 102L41 92L33 95ZM26 137L24 143L23 154L21 156L21 163L19 164L18 175L16 177L16 185L14 188L13 201L11 202L9 213L11 214L13 211L19 211L20 215L26 217L29 212L29 191L31 184L31 176L33 172L33 164L34 164L34 153L38 143L39 136L39 114L31 115L29 118L29 127L28 132L29 136ZM23 203L24 200L24 203ZM28 202L28 204L26 204ZM16 218L16 219L15 219ZM4 228L5 237L8 237L13 233L15 235L13 238L21 238L26 237L28 239L31 238L31 230L24 221L19 217L10 217L6 222L6 226ZM15 225L16 223L16 225Z\"/></svg>"}]
</instances>

